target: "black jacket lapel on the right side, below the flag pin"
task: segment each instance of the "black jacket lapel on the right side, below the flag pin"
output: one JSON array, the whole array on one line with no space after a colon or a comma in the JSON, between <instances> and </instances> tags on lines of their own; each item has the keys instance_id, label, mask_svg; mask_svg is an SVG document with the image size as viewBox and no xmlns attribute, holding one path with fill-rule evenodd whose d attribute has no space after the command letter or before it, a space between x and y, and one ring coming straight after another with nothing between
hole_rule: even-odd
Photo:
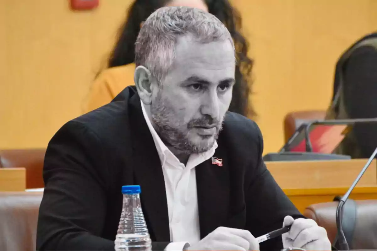
<instances>
[{"instance_id":1,"label":"black jacket lapel on the right side, below the flag pin","mask_svg":"<svg viewBox=\"0 0 377 251\"><path fill-rule=\"evenodd\" d=\"M195 168L201 239L225 224L229 209L229 166L220 142L213 156L223 165L209 159Z\"/></svg>"}]
</instances>

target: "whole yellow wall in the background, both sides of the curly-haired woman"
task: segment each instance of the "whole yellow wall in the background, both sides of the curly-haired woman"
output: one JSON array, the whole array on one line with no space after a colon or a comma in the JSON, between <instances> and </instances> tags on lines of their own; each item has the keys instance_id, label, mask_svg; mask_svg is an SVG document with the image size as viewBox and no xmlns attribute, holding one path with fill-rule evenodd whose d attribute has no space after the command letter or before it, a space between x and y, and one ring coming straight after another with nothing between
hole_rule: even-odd
<instances>
[{"instance_id":1,"label":"whole yellow wall in the background, both sides of the curly-haired woman","mask_svg":"<svg viewBox=\"0 0 377 251\"><path fill-rule=\"evenodd\" d=\"M342 51L377 27L375 0L233 0L255 59L265 152L293 110L325 109ZM0 148L45 147L81 105L130 0L72 12L67 0L0 0Z\"/></svg>"}]
</instances>

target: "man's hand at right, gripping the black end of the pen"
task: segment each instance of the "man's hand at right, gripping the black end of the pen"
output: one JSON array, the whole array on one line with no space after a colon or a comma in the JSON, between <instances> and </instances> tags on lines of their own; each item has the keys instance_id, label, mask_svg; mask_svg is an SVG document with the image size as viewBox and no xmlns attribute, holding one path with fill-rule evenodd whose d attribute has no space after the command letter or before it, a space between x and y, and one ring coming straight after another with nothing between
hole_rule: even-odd
<instances>
[{"instance_id":1,"label":"man's hand at right, gripping the black end of the pen","mask_svg":"<svg viewBox=\"0 0 377 251\"><path fill-rule=\"evenodd\" d=\"M284 248L331 250L325 228L319 227L312 219L294 220L291 216L285 216L283 227L289 225L290 231L282 235Z\"/></svg>"}]
</instances>

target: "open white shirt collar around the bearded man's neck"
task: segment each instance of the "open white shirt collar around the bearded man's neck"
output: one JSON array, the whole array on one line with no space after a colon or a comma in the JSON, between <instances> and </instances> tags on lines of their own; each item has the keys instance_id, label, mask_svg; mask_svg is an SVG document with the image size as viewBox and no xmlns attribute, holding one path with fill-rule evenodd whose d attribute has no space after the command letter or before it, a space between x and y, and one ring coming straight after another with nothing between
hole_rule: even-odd
<instances>
[{"instance_id":1,"label":"open white shirt collar around the bearded man's neck","mask_svg":"<svg viewBox=\"0 0 377 251\"><path fill-rule=\"evenodd\" d=\"M157 152L158 152L158 156L159 156L160 161L161 161L161 166L162 167L164 166L168 157L170 159L174 159L174 161L177 161L177 163L179 163L178 158L169 150L169 148L167 148L167 146L164 144L164 142L162 142L161 138L157 134L155 128L153 128L152 123L150 122L149 117L147 115L147 112L145 110L145 106L144 106L144 104L141 100L140 100L140 103L141 103L141 110L143 111L144 119L147 123L147 126L149 128L150 133L152 134L153 141L155 142L155 146L156 146L156 149L157 149ZM200 156L201 158L204 157L204 160L208 160L210 157L213 156L213 154L215 154L215 150L216 150L217 147L218 147L218 144L215 141L215 144L213 144L212 148L209 149L208 151L202 152L200 154L190 155L189 161L193 160L193 158L196 158L198 156ZM198 164L200 164L200 163L198 163Z\"/></svg>"}]
</instances>

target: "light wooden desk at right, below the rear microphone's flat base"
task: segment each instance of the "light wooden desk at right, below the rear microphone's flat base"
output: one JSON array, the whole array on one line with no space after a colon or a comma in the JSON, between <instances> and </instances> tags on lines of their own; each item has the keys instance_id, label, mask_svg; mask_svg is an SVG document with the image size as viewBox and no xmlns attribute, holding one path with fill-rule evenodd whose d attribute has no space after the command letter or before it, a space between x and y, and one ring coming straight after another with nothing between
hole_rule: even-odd
<instances>
[{"instance_id":1,"label":"light wooden desk at right, below the rear microphone's flat base","mask_svg":"<svg viewBox=\"0 0 377 251\"><path fill-rule=\"evenodd\" d=\"M301 213L311 204L346 193L368 160L266 161L277 184ZM373 160L351 199L377 199L377 161Z\"/></svg>"}]
</instances>

